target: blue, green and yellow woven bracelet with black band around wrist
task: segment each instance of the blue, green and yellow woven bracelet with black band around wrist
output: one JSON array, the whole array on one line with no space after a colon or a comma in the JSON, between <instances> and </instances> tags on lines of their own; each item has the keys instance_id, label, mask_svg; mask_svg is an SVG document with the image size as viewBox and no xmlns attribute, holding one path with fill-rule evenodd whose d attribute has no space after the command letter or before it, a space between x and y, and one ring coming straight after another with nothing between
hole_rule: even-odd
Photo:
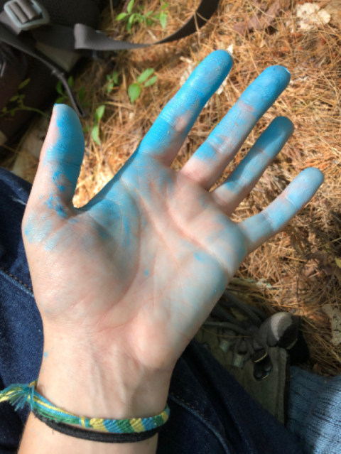
<instances>
[{"instance_id":1,"label":"blue, green and yellow woven bracelet with black band around wrist","mask_svg":"<svg viewBox=\"0 0 341 454\"><path fill-rule=\"evenodd\" d=\"M9 401L16 405L16 410L21 409L26 402L30 404L33 414L48 426L67 435L77 438L86 438L96 441L108 441L114 443L131 443L141 441L153 436L168 421L170 409L166 408L156 416L150 418L127 418L127 419L103 419L86 418L77 416L51 404L47 399L36 391L38 380L30 384L11 384L0 392L0 403ZM93 428L98 432L85 431L77 427L67 426L77 424L83 428ZM102 432L102 433L100 433ZM114 434L105 439L105 436ZM99 440L102 436L103 439ZM122 437L123 436L123 437Z\"/></svg>"}]
</instances>

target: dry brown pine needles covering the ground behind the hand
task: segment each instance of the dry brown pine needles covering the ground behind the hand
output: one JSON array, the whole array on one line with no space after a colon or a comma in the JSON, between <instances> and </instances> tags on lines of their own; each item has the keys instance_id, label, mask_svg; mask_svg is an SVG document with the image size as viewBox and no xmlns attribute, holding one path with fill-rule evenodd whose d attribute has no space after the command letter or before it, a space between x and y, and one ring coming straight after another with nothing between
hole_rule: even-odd
<instances>
[{"instance_id":1,"label":"dry brown pine needles covering the ground behind the hand","mask_svg":"<svg viewBox=\"0 0 341 454\"><path fill-rule=\"evenodd\" d=\"M158 11L160 1L139 1L146 11ZM198 1L172 1L169 5L167 34L191 16ZM341 303L341 270L335 258L341 257L341 57L340 30L325 25L310 31L291 31L295 27L296 1L283 0L269 28L241 36L234 30L259 11L267 11L274 0L221 1L217 14L202 31L178 43L145 50L121 52L117 70L121 85L106 93L106 64L89 63L77 78L85 86L90 115L83 126L92 126L94 109L106 104L101 122L102 146L87 135L85 159L75 195L75 205L84 205L112 178L134 152L161 109L179 89L188 61L198 63L212 50L234 45L234 65L221 94L215 94L202 110L188 140L173 163L180 169L239 95L266 67L283 65L291 72L291 82L274 106L256 124L237 157L217 184L237 166L261 131L274 117L284 115L293 121L295 133L281 155L269 166L256 188L239 206L233 219L240 221L269 204L299 172L309 166L320 168L325 183L310 204L284 232L251 254L232 281L269 313L290 310L303 317L315 370L323 374L341 372L341 347L331 341L330 320L321 308ZM113 38L153 43L166 36L161 26L147 30L136 26L131 36L113 18L119 13L108 7L103 13L102 30ZM188 60L186 60L188 59ZM158 82L143 90L134 105L127 87L147 67L153 67ZM318 254L316 254L318 252ZM341 306L341 304L340 304Z\"/></svg>"}]
</instances>

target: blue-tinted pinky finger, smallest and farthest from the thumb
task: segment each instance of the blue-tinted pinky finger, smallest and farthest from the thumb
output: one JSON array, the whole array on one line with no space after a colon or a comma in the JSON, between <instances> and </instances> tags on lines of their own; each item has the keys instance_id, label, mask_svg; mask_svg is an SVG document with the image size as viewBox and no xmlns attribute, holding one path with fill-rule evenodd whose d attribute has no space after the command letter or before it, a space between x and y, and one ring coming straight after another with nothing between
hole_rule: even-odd
<instances>
[{"instance_id":1,"label":"blue-tinted pinky finger, smallest and farthest from the thumb","mask_svg":"<svg viewBox=\"0 0 341 454\"><path fill-rule=\"evenodd\" d=\"M258 215L239 223L247 237L248 254L288 225L288 222L313 198L323 183L323 173L306 168L281 195Z\"/></svg>"}]
</instances>

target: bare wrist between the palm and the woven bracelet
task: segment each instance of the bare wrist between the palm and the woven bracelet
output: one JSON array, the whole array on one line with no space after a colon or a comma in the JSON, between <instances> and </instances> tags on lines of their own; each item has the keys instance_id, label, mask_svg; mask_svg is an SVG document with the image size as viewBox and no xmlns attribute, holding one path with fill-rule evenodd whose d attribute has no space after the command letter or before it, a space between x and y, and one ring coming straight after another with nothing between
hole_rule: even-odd
<instances>
[{"instance_id":1,"label":"bare wrist between the palm and the woven bracelet","mask_svg":"<svg viewBox=\"0 0 341 454\"><path fill-rule=\"evenodd\" d=\"M37 391L53 405L87 418L155 416L166 406L171 372L148 371L131 358L45 340Z\"/></svg>"}]
</instances>

